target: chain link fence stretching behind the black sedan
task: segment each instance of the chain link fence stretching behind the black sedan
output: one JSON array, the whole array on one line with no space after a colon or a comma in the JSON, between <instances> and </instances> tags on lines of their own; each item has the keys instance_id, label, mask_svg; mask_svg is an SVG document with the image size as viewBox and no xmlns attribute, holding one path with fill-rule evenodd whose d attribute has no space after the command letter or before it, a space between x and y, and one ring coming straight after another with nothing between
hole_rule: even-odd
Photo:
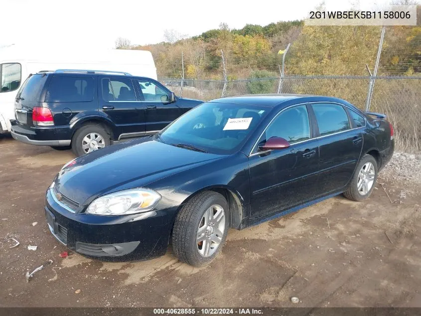
<instances>
[{"instance_id":1,"label":"chain link fence stretching behind the black sedan","mask_svg":"<svg viewBox=\"0 0 421 316\"><path fill-rule=\"evenodd\" d=\"M195 80L160 78L178 96L212 100L222 96L298 93L334 96L365 110L369 76L285 76L262 79ZM394 125L397 150L421 151L421 77L378 76L370 111L385 113Z\"/></svg>"}]
</instances>

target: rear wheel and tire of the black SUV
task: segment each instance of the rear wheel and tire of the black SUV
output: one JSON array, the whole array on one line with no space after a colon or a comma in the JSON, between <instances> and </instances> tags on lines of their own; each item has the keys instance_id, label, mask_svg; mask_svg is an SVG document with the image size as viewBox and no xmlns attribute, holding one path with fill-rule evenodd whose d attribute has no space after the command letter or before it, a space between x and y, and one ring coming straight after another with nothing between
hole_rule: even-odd
<instances>
[{"instance_id":1,"label":"rear wheel and tire of the black SUV","mask_svg":"<svg viewBox=\"0 0 421 316\"><path fill-rule=\"evenodd\" d=\"M95 141L93 148L90 146L90 139ZM72 150L78 157L109 145L110 135L108 131L100 124L84 125L76 130L72 137Z\"/></svg>"}]
</instances>

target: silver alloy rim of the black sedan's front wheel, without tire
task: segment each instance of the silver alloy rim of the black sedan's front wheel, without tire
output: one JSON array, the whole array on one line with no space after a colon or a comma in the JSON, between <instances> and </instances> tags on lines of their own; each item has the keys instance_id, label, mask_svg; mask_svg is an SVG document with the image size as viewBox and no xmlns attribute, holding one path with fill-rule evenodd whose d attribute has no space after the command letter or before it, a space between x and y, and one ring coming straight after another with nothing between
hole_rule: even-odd
<instances>
[{"instance_id":1,"label":"silver alloy rim of the black sedan's front wheel, without tire","mask_svg":"<svg viewBox=\"0 0 421 316\"><path fill-rule=\"evenodd\" d=\"M196 245L202 257L211 257L219 245L225 231L225 212L222 206L212 205L203 214L197 229Z\"/></svg>"}]
</instances>

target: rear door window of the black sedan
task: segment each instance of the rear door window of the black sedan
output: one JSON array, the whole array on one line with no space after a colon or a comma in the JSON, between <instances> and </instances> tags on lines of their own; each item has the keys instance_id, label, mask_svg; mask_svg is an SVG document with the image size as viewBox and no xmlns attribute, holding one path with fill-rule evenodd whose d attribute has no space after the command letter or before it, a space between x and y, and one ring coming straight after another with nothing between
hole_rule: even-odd
<instances>
[{"instance_id":1,"label":"rear door window of the black sedan","mask_svg":"<svg viewBox=\"0 0 421 316\"><path fill-rule=\"evenodd\" d=\"M313 104L320 136L350 129L348 115L339 104Z\"/></svg>"}]
</instances>

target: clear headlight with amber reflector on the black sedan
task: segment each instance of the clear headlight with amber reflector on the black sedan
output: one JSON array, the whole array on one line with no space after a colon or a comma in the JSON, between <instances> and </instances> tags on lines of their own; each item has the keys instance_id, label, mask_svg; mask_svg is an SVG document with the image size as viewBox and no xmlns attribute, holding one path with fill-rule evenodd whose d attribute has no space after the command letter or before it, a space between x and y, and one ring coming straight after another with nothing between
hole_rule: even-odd
<instances>
[{"instance_id":1,"label":"clear headlight with amber reflector on the black sedan","mask_svg":"<svg viewBox=\"0 0 421 316\"><path fill-rule=\"evenodd\" d=\"M104 195L89 204L86 213L97 215L126 215L153 209L161 196L149 189L130 189Z\"/></svg>"}]
</instances>

